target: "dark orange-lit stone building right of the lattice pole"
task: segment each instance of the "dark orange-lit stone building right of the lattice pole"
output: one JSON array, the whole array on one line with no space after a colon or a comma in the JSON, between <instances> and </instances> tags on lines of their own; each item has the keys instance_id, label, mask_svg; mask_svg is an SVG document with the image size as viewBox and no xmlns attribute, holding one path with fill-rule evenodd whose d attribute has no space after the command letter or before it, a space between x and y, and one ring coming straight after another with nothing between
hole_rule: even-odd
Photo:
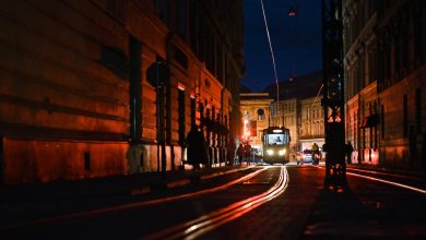
<instances>
[{"instance_id":1,"label":"dark orange-lit stone building right of the lattice pole","mask_svg":"<svg viewBox=\"0 0 426 240\"><path fill-rule=\"evenodd\" d=\"M426 2L343 1L353 163L426 168Z\"/></svg>"}]
</instances>

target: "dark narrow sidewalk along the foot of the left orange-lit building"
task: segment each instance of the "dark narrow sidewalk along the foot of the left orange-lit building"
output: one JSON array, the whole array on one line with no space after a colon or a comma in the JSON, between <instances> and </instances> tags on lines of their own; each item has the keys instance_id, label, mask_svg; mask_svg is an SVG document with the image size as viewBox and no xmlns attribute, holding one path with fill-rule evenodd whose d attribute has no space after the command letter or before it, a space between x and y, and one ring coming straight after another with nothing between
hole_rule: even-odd
<instances>
[{"instance_id":1,"label":"dark narrow sidewalk along the foot of the left orange-lit building","mask_svg":"<svg viewBox=\"0 0 426 240\"><path fill-rule=\"evenodd\" d=\"M189 184L202 178L212 178L246 169L247 165L203 168L199 171L176 170L143 172L94 179L55 181L0 188L0 203L10 201L43 201L63 197L91 197L103 195L138 195L156 189L170 189Z\"/></svg>"}]
</instances>

